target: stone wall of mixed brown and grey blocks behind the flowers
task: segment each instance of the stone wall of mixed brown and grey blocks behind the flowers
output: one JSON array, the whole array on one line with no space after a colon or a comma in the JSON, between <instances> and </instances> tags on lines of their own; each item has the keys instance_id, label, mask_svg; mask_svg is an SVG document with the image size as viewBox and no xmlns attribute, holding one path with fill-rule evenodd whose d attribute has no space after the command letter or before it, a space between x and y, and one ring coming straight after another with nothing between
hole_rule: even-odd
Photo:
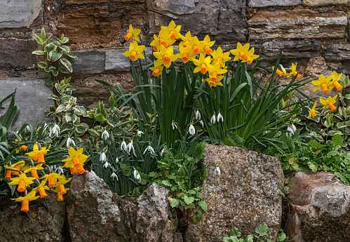
<instances>
[{"instance_id":1,"label":"stone wall of mixed brown and grey blocks behind the flowers","mask_svg":"<svg viewBox=\"0 0 350 242\"><path fill-rule=\"evenodd\" d=\"M249 41L257 51L264 47L263 67L274 65L283 48L281 62L297 62L300 72L311 58L321 57L328 70L350 74L349 10L349 0L0 0L0 78L12 85L8 80L15 77L47 77L31 54L39 48L32 32L45 27L54 38L69 37L79 57L73 62L75 95L93 107L109 98L95 79L133 88L122 55L128 25L142 29L147 44L170 20L182 25L182 34L190 30L200 39L209 34L227 49L237 41ZM13 90L20 88L14 80Z\"/></svg>"}]
</instances>

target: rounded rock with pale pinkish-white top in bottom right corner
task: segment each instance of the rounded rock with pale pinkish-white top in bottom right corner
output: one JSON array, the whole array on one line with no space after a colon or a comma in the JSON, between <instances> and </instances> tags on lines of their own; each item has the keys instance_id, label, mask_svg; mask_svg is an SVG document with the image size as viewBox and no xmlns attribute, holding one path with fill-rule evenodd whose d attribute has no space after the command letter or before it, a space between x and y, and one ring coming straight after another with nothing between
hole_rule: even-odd
<instances>
[{"instance_id":1,"label":"rounded rock with pale pinkish-white top in bottom right corner","mask_svg":"<svg viewBox=\"0 0 350 242\"><path fill-rule=\"evenodd\" d=\"M325 172L296 173L290 184L285 231L293 242L350 241L349 185Z\"/></svg>"}]
</instances>

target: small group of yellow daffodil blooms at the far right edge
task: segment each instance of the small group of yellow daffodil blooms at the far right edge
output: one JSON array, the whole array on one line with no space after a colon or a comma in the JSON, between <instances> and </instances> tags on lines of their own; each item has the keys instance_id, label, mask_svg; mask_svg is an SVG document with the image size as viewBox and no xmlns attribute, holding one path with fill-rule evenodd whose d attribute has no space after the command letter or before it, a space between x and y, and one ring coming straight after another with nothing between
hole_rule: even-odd
<instances>
[{"instance_id":1,"label":"small group of yellow daffodil blooms at the far right edge","mask_svg":"<svg viewBox=\"0 0 350 242\"><path fill-rule=\"evenodd\" d=\"M343 86L339 84L339 80L342 77L342 73L341 74L337 74L337 72L333 72L332 75L325 77L323 75L321 75L318 80L312 81L312 83L316 86L316 88L314 89L314 92L316 92L316 90L318 89L322 89L323 93L328 93L330 90L332 90L334 87L337 88L337 90L342 90ZM335 109L337 109L335 107L335 102L337 99L337 95L335 95L333 98L332 97L328 97L327 99L325 98L320 98L320 102L321 104L323 104L323 107L321 107L321 109L324 108L330 108L330 110L333 112L335 111ZM309 111L309 119L312 116L313 118L316 117L316 113L318 113L316 110L316 103L314 104L314 107L312 107L312 109Z\"/></svg>"}]
</instances>

